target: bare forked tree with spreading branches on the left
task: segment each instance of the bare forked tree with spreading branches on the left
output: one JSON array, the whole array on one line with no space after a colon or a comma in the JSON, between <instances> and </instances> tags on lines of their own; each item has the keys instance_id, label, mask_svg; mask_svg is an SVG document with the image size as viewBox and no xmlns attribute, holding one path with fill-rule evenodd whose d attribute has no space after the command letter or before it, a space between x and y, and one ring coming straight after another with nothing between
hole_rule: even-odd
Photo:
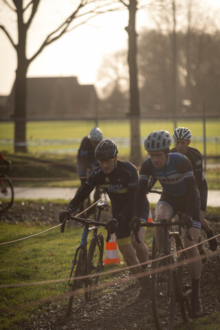
<instances>
[{"instance_id":1,"label":"bare forked tree with spreading branches on the left","mask_svg":"<svg viewBox=\"0 0 220 330\"><path fill-rule=\"evenodd\" d=\"M45 37L43 43L36 52L27 58L27 34L28 29L34 19L34 16L39 8L41 0L1 0L6 7L17 15L17 43L13 40L12 35L5 27L0 24L0 29L3 30L8 37L10 43L17 52L17 70L14 84L14 151L27 152L26 143L26 99L27 99L27 81L26 76L28 67L32 61L41 54L41 52L63 36L63 34L77 28L79 25L86 23L89 19L96 17L98 14L112 10L109 5L114 1L108 0L78 0L73 12L50 34ZM114 8L115 10L115 8ZM45 18L46 19L46 18ZM78 19L78 21L76 21ZM74 26L72 22L77 22Z\"/></svg>"}]
</instances>

